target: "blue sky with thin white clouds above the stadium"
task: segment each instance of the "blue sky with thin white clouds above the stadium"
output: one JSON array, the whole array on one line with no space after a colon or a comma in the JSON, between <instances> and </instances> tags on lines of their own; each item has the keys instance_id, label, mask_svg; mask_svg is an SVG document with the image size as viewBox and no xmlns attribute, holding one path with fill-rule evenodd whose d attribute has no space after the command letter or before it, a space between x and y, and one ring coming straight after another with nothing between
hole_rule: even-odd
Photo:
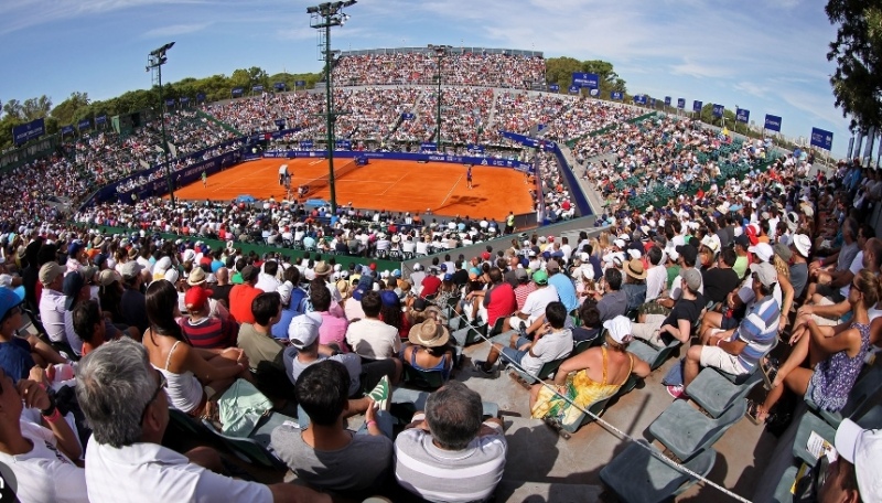
<instances>
[{"instance_id":1,"label":"blue sky with thin white clouds above the stadium","mask_svg":"<svg viewBox=\"0 0 882 503\"><path fill-rule=\"evenodd\" d=\"M0 3L0 100L72 92L105 99L150 86L147 54L165 42L163 81L260 66L318 72L302 0L17 0ZM788 137L848 122L833 107L825 55L836 31L810 0L359 0L340 50L429 43L535 49L605 60L628 92L719 103L783 117Z\"/></svg>"}]
</instances>

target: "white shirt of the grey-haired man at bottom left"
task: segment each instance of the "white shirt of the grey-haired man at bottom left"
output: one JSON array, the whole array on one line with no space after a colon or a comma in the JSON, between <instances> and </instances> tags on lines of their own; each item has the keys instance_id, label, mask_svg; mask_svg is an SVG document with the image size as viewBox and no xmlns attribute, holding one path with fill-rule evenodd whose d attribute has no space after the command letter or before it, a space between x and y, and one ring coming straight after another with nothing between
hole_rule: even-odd
<instances>
[{"instance_id":1,"label":"white shirt of the grey-haired man at bottom left","mask_svg":"<svg viewBox=\"0 0 882 503\"><path fill-rule=\"evenodd\" d=\"M92 503L272 501L272 493L263 484L219 475L157 443L117 449L98 443L93 437L86 459Z\"/></svg>"}]
</instances>

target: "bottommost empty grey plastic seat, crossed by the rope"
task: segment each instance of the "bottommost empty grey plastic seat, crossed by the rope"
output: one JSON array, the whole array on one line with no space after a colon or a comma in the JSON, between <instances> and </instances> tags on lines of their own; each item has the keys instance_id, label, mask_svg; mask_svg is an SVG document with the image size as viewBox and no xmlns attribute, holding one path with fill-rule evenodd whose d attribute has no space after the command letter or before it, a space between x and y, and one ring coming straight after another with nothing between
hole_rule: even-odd
<instances>
[{"instance_id":1,"label":"bottommost empty grey plastic seat, crossed by the rope","mask_svg":"<svg viewBox=\"0 0 882 503\"><path fill-rule=\"evenodd\" d=\"M669 501L695 485L698 480L669 465L654 447L643 440L633 442L600 471L606 488L626 503L657 503ZM706 477L713 468L717 451L707 449L684 463L686 468Z\"/></svg>"}]
</instances>

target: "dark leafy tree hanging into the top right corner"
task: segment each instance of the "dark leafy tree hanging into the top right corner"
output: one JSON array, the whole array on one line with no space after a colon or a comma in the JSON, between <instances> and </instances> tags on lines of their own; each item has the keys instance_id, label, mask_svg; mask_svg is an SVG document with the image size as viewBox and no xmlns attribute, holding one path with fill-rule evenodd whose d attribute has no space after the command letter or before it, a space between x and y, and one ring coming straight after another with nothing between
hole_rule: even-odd
<instances>
[{"instance_id":1,"label":"dark leafy tree hanging into the top right corner","mask_svg":"<svg viewBox=\"0 0 882 503\"><path fill-rule=\"evenodd\" d=\"M882 127L882 0L829 0L830 23L838 25L827 60L836 106L854 132Z\"/></svg>"}]
</instances>

